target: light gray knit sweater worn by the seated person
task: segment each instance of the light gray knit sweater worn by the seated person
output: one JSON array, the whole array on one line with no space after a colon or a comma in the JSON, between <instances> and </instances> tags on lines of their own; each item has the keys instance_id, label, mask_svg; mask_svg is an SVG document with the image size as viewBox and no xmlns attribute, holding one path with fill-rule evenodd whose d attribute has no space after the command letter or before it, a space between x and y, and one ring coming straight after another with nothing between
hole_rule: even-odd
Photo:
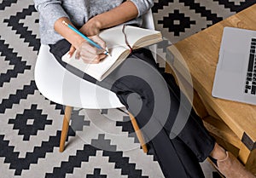
<instances>
[{"instance_id":1,"label":"light gray knit sweater worn by the seated person","mask_svg":"<svg viewBox=\"0 0 256 178\"><path fill-rule=\"evenodd\" d=\"M60 34L55 32L55 21L67 17L74 26L83 26L87 20L96 14L102 14L119 6L123 0L34 0L35 8L39 12L40 38L43 44L52 44L61 40ZM142 24L140 16L148 11L154 0L131 0L138 9L137 19L128 24Z\"/></svg>"}]
</instances>

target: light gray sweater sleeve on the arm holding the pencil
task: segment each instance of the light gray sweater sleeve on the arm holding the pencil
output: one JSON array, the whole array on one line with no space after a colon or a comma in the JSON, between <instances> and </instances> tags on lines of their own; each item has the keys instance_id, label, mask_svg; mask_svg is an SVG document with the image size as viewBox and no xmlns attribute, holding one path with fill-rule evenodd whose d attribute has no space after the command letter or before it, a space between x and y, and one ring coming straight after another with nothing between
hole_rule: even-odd
<instances>
[{"instance_id":1,"label":"light gray sweater sleeve on the arm holding the pencil","mask_svg":"<svg viewBox=\"0 0 256 178\"><path fill-rule=\"evenodd\" d=\"M61 0L34 0L35 9L48 23L50 28L54 28L55 21L61 17L67 17L67 13L61 7Z\"/></svg>"}]
</instances>

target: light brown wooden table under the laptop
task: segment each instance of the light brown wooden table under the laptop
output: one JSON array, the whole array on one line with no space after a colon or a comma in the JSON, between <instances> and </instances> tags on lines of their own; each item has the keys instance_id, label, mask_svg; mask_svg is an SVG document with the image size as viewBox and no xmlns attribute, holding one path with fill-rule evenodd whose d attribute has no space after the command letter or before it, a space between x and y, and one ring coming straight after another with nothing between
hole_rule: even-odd
<instances>
[{"instance_id":1,"label":"light brown wooden table under the laptop","mask_svg":"<svg viewBox=\"0 0 256 178\"><path fill-rule=\"evenodd\" d=\"M187 75L183 61L187 64L195 89L196 112L217 141L256 174L256 106L211 95L224 26L256 30L256 4L168 47L169 55L174 57L166 71L183 78ZM178 84L186 92L189 83L183 79Z\"/></svg>"}]
</instances>

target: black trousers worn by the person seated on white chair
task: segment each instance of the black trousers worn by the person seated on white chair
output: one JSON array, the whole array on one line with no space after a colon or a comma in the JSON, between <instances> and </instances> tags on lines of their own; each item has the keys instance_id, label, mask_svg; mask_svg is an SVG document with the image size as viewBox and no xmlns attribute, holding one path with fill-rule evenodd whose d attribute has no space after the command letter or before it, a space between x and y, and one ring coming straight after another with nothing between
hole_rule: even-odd
<instances>
[{"instance_id":1,"label":"black trousers worn by the person seated on white chair","mask_svg":"<svg viewBox=\"0 0 256 178\"><path fill-rule=\"evenodd\" d=\"M166 178L204 177L199 162L212 152L215 141L187 105L173 76L160 71L148 49L134 51L108 78L97 82L61 61L70 47L66 40L49 46L63 67L119 97L137 118Z\"/></svg>"}]
</instances>

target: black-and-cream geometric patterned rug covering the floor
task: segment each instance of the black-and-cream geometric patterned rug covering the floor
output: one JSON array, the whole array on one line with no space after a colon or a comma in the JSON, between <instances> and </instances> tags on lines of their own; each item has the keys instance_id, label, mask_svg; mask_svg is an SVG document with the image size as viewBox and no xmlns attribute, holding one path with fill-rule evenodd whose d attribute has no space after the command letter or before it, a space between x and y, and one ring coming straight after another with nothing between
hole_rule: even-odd
<instances>
[{"instance_id":1,"label":"black-and-cream geometric patterned rug covering the floor","mask_svg":"<svg viewBox=\"0 0 256 178\"><path fill-rule=\"evenodd\" d=\"M155 0L154 22L176 43L253 2ZM33 78L40 47L38 12L32 0L0 0L0 20L1 178L164 177L154 156L140 149L121 109L75 108L67 147L60 153L63 106L45 99ZM210 164L201 165L207 178L218 177Z\"/></svg>"}]
</instances>

